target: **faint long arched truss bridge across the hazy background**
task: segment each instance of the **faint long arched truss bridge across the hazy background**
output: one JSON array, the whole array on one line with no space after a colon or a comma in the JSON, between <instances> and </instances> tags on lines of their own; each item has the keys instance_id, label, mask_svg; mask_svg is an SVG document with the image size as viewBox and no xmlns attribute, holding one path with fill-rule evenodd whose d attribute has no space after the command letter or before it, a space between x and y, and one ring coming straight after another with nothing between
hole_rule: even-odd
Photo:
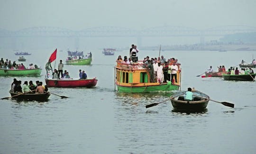
<instances>
[{"instance_id":1,"label":"faint long arched truss bridge across the hazy background","mask_svg":"<svg viewBox=\"0 0 256 154\"><path fill-rule=\"evenodd\" d=\"M29 27L17 31L0 29L0 37L171 37L171 36L224 36L256 32L256 27L223 26L199 30L181 26L151 27L134 30L124 27L91 27L79 31L60 27Z\"/></svg>"}]
</instances>

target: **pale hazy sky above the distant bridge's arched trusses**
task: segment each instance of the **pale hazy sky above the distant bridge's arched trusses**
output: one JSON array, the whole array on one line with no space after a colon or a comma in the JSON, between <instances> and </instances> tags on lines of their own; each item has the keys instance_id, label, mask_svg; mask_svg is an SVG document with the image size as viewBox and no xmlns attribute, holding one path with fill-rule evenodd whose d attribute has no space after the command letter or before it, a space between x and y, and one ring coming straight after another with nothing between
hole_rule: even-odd
<instances>
[{"instance_id":1,"label":"pale hazy sky above the distant bridge's arched trusses","mask_svg":"<svg viewBox=\"0 0 256 154\"><path fill-rule=\"evenodd\" d=\"M0 0L0 28L256 27L256 0Z\"/></svg>"}]
</instances>

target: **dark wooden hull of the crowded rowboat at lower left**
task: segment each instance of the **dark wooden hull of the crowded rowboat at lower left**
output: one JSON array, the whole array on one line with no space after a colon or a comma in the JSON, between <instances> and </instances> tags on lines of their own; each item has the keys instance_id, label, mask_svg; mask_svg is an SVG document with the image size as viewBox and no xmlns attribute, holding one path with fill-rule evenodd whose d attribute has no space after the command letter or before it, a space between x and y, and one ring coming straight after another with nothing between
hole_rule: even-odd
<instances>
[{"instance_id":1,"label":"dark wooden hull of the crowded rowboat at lower left","mask_svg":"<svg viewBox=\"0 0 256 154\"><path fill-rule=\"evenodd\" d=\"M11 96L14 95L18 95L18 93L15 92L11 92L9 91ZM21 94L15 97L12 97L13 99L17 99L17 100L37 100L37 101L46 101L48 100L49 96L51 94L49 92L44 92L42 94L37 94L37 93L25 93L25 94Z\"/></svg>"}]
</instances>

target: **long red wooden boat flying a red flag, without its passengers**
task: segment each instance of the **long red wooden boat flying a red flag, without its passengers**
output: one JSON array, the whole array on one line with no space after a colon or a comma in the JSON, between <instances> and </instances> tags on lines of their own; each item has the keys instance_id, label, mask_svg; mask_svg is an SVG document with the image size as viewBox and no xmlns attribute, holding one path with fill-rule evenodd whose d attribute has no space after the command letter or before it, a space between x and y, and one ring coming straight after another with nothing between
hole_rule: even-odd
<instances>
[{"instance_id":1,"label":"long red wooden boat flying a red flag, without its passengers","mask_svg":"<svg viewBox=\"0 0 256 154\"><path fill-rule=\"evenodd\" d=\"M48 87L86 87L91 88L95 87L98 80L95 78L93 79L45 79L46 85Z\"/></svg>"}]
</instances>

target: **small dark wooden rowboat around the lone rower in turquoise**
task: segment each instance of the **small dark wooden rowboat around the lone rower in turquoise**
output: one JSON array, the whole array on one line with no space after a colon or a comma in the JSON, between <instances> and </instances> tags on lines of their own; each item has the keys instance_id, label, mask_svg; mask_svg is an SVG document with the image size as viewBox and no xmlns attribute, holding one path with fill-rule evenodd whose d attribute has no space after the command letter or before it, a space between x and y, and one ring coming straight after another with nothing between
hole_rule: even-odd
<instances>
[{"instance_id":1,"label":"small dark wooden rowboat around the lone rower in turquoise","mask_svg":"<svg viewBox=\"0 0 256 154\"><path fill-rule=\"evenodd\" d=\"M193 100L184 100L186 91L175 93L170 97L174 109L200 111L206 109L210 97L200 91L192 91Z\"/></svg>"}]
</instances>

